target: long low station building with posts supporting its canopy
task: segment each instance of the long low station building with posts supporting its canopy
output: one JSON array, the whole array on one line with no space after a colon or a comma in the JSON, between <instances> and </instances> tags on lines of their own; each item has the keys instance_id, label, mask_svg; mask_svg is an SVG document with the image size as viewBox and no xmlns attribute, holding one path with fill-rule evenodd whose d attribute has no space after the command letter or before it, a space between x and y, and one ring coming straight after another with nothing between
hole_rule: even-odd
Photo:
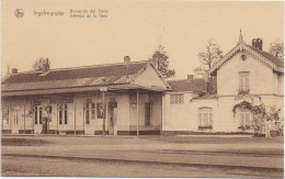
<instances>
[{"instance_id":1,"label":"long low station building with posts supporting its canopy","mask_svg":"<svg viewBox=\"0 0 285 179\"><path fill-rule=\"evenodd\" d=\"M18 72L2 80L2 132L159 134L168 83L149 61Z\"/></svg>"}]
</instances>

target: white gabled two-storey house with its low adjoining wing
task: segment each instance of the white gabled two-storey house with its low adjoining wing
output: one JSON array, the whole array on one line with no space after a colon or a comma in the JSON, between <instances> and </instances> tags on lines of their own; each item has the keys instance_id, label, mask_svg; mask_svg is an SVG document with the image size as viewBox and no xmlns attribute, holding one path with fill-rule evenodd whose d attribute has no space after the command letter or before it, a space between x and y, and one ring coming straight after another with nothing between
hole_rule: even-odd
<instances>
[{"instance_id":1,"label":"white gabled two-storey house with its low adjoining wing","mask_svg":"<svg viewBox=\"0 0 285 179\"><path fill-rule=\"evenodd\" d=\"M210 88L203 79L192 77L168 81L173 91L163 97L163 134L252 133L248 126L253 123L253 113L242 105L244 102L280 109L283 122L284 63L262 51L262 40L255 38L248 45L240 37L208 74L214 76Z\"/></svg>"}]
</instances>

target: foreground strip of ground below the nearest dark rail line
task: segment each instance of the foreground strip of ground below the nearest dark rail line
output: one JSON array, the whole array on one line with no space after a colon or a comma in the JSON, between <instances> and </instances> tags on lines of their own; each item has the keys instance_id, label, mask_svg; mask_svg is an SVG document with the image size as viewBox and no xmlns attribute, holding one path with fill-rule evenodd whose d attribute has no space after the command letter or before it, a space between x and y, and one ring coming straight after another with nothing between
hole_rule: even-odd
<instances>
[{"instance_id":1,"label":"foreground strip of ground below the nearest dark rail line","mask_svg":"<svg viewBox=\"0 0 285 179\"><path fill-rule=\"evenodd\" d=\"M22 163L24 165L21 165ZM3 157L2 176L276 178L283 175L262 170Z\"/></svg>"}]
</instances>

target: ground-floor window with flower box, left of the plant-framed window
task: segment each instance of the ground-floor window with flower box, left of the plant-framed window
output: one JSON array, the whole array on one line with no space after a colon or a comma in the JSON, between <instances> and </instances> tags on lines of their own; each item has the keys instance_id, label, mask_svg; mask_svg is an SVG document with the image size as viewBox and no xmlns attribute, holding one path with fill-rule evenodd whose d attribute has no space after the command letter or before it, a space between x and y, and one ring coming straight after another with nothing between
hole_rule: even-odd
<instances>
[{"instance_id":1,"label":"ground-floor window with flower box, left of the plant-framed window","mask_svg":"<svg viewBox=\"0 0 285 179\"><path fill-rule=\"evenodd\" d=\"M213 126L213 109L201 108L198 111L198 126Z\"/></svg>"}]
</instances>

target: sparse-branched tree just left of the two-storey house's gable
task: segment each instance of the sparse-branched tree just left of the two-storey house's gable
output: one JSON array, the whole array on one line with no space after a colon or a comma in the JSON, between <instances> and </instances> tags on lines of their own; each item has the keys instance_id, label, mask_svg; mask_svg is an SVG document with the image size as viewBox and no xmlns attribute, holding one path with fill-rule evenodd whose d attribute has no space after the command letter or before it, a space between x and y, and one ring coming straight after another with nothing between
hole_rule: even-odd
<instances>
[{"instance_id":1,"label":"sparse-branched tree just left of the two-storey house's gable","mask_svg":"<svg viewBox=\"0 0 285 179\"><path fill-rule=\"evenodd\" d=\"M215 40L208 40L203 52L197 54L200 61L208 70L215 63L223 57L220 47L215 43Z\"/></svg>"}]
</instances>

